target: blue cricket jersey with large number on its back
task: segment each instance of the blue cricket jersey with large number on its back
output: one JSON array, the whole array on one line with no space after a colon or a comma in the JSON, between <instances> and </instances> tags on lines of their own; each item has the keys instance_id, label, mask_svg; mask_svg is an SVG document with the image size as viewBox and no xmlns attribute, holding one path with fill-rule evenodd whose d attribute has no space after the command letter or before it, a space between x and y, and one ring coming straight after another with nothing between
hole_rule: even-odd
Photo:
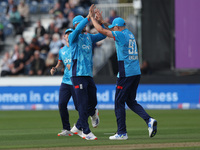
<instances>
[{"instance_id":1,"label":"blue cricket jersey with large number on its back","mask_svg":"<svg viewBox=\"0 0 200 150\"><path fill-rule=\"evenodd\" d=\"M135 37L131 31L112 31L117 51L119 72L117 77L140 75L140 64Z\"/></svg>"}]
</instances>

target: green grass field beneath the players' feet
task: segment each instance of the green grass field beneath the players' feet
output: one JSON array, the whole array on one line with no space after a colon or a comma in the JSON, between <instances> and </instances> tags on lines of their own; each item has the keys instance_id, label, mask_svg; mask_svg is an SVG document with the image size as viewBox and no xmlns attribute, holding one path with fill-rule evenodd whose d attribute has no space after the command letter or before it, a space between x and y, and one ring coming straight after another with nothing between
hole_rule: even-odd
<instances>
[{"instance_id":1,"label":"green grass field beneath the players' feet","mask_svg":"<svg viewBox=\"0 0 200 150\"><path fill-rule=\"evenodd\" d=\"M0 149L44 148L47 150L72 147L96 150L200 149L200 110L147 110L147 112L158 121L158 132L154 138L148 137L145 122L132 111L127 110L129 139L110 141L108 137L117 129L114 111L99 110L99 127L94 129L90 124L98 140L87 141L77 135L57 136L62 129L58 111L0 111ZM73 126L78 113L76 111L69 113L70 123Z\"/></svg>"}]
</instances>

